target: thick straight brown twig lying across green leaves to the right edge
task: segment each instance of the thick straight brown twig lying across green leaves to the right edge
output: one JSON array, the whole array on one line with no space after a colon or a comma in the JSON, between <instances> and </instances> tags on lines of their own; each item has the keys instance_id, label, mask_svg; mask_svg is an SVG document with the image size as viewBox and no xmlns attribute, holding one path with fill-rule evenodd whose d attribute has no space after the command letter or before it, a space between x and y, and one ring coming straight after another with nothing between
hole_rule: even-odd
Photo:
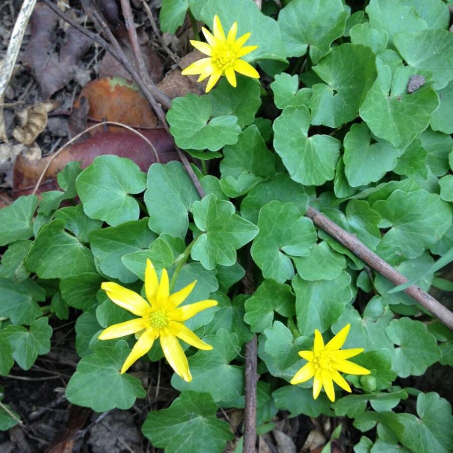
<instances>
[{"instance_id":1,"label":"thick straight brown twig lying across green leaves to the right edge","mask_svg":"<svg viewBox=\"0 0 453 453\"><path fill-rule=\"evenodd\" d=\"M340 226L338 226L335 222L321 214L316 209L309 207L305 215L311 218L313 223L318 225L319 228L324 230L326 233L329 233L330 236L335 238L338 242L357 255L362 261L368 264L368 266L384 275L384 277L392 283L395 283L395 285L400 285L408 281L404 275L400 274L380 256L369 250L368 247L366 247L354 235L351 235L347 231L340 228ZM405 292L416 300L422 307L428 310L428 312L430 312L433 316L438 318L439 321L445 324L445 326L447 326L450 330L453 330L453 313L440 304L440 302L434 297L416 285L409 286L405 289Z\"/></svg>"}]
</instances>

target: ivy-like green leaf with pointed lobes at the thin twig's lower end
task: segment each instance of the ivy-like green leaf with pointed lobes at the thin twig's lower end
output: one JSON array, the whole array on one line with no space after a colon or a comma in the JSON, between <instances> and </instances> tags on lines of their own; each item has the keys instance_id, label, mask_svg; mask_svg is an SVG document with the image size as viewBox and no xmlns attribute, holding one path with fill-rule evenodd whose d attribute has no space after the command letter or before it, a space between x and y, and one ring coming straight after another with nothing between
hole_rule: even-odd
<instances>
[{"instance_id":1,"label":"ivy-like green leaf with pointed lobes at the thin twig's lower end","mask_svg":"<svg viewBox=\"0 0 453 453\"><path fill-rule=\"evenodd\" d=\"M191 257L200 261L205 269L214 269L217 264L233 265L236 250L258 233L253 223L235 214L232 203L217 200L212 194L196 201L192 213L202 233L192 247Z\"/></svg>"}]
</instances>

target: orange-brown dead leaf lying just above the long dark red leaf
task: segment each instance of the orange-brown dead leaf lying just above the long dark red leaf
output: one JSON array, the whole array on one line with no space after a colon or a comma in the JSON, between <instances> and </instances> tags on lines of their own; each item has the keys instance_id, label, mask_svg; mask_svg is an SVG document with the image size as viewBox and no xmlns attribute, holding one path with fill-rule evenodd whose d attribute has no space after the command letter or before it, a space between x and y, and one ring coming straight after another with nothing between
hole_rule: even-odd
<instances>
[{"instance_id":1,"label":"orange-brown dead leaf lying just above the long dark red leaf","mask_svg":"<svg viewBox=\"0 0 453 453\"><path fill-rule=\"evenodd\" d=\"M97 79L87 84L74 108L79 109L81 100L86 98L90 106L88 118L91 124L101 121L116 121L134 128L155 128L157 118L139 88L121 77ZM90 125L90 124L88 124ZM109 126L111 132L123 128ZM94 131L93 133L96 133Z\"/></svg>"}]
</instances>

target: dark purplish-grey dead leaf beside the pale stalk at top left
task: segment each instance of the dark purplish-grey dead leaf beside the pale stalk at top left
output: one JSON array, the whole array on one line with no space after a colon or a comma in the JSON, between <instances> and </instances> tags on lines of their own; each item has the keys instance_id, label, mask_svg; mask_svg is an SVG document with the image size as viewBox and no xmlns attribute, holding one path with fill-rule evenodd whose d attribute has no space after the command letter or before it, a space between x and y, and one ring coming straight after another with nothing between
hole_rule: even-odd
<instances>
[{"instance_id":1,"label":"dark purplish-grey dead leaf beside the pale stalk at top left","mask_svg":"<svg viewBox=\"0 0 453 453\"><path fill-rule=\"evenodd\" d=\"M23 64L31 69L44 98L61 90L79 69L78 63L93 41L70 27L59 53L55 52L58 17L42 3L35 6L30 42L22 56Z\"/></svg>"}]
</instances>

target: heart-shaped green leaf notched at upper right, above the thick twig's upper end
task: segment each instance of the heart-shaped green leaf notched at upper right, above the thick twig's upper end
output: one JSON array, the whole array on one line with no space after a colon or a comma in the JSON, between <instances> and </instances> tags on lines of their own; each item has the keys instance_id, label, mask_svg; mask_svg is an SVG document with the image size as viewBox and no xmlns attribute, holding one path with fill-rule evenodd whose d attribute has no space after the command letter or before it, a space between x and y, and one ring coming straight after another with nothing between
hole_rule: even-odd
<instances>
[{"instance_id":1,"label":"heart-shaped green leaf notched at upper right, above the thick twig's upper end","mask_svg":"<svg viewBox=\"0 0 453 453\"><path fill-rule=\"evenodd\" d=\"M322 185L335 176L340 142L330 135L308 137L307 107L286 107L274 121L274 147L289 176L306 185Z\"/></svg>"}]
</instances>

